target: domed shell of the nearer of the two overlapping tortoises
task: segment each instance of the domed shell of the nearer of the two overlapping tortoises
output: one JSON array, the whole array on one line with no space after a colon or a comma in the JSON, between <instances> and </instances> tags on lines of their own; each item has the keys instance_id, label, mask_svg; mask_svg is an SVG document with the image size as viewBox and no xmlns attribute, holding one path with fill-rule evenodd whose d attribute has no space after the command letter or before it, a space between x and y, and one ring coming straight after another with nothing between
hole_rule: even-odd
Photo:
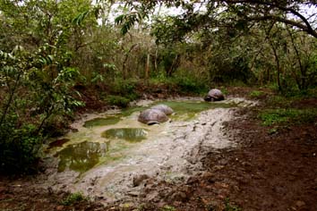
<instances>
[{"instance_id":1,"label":"domed shell of the nearer of the two overlapping tortoises","mask_svg":"<svg viewBox=\"0 0 317 211\"><path fill-rule=\"evenodd\" d=\"M139 115L138 121L146 124L167 122L167 115L159 109L146 109Z\"/></svg>"}]
</instances>

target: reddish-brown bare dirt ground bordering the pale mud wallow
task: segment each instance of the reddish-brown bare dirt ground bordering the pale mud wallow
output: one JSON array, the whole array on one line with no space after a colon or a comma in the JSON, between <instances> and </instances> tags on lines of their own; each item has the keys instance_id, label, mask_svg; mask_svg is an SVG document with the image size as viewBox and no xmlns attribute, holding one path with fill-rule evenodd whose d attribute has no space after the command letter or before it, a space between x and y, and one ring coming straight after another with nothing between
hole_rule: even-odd
<instances>
[{"instance_id":1,"label":"reddish-brown bare dirt ground bordering the pale mud wallow","mask_svg":"<svg viewBox=\"0 0 317 211\"><path fill-rule=\"evenodd\" d=\"M252 89L230 89L248 96ZM266 91L266 90L262 90ZM268 91L267 95L271 95ZM98 201L62 206L63 190L30 189L29 177L0 177L0 210L317 210L317 120L270 134L261 126L256 109L236 113L226 130L235 131L237 148L210 152L203 159L206 173L182 184L150 179L135 207L102 207ZM292 105L316 107L316 98ZM146 198L153 192L157 197ZM169 207L167 207L167 205ZM165 208L162 208L165 207ZM173 209L175 207L176 209Z\"/></svg>"}]
</instances>

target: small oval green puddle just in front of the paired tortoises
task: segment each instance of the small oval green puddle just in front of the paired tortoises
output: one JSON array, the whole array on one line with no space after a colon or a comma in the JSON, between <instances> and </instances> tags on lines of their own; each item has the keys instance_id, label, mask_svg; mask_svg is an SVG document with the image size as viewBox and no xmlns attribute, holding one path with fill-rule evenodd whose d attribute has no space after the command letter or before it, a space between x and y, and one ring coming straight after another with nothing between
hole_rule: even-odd
<instances>
[{"instance_id":1,"label":"small oval green puddle just in front of the paired tortoises","mask_svg":"<svg viewBox=\"0 0 317 211\"><path fill-rule=\"evenodd\" d=\"M114 128L104 131L101 137L106 139L125 139L130 142L139 142L146 139L148 132L142 128Z\"/></svg>"}]
</instances>

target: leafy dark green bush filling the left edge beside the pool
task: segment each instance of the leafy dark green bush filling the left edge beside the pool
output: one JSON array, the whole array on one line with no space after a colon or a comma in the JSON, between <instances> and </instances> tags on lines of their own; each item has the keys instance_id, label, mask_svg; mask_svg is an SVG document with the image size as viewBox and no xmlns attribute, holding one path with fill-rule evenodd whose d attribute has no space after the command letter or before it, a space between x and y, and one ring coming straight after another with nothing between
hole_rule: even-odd
<instances>
[{"instance_id":1,"label":"leafy dark green bush filling the left edge beside the pool","mask_svg":"<svg viewBox=\"0 0 317 211\"><path fill-rule=\"evenodd\" d=\"M65 2L11 3L0 1L0 19L7 27L0 36L8 33L12 43L11 50L0 42L0 162L7 172L28 173L37 167L43 137L82 105L73 91L79 71L71 65L68 46L71 30L80 26L65 15Z\"/></svg>"}]
</instances>

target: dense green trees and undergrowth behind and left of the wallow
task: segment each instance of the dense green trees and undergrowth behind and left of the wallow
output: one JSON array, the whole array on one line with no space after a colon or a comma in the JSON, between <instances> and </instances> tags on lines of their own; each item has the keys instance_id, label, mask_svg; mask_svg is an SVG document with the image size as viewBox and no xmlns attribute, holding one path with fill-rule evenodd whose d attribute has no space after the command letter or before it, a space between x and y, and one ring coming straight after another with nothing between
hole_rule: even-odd
<instances>
[{"instance_id":1,"label":"dense green trees and undergrowth behind and left of the wallow","mask_svg":"<svg viewBox=\"0 0 317 211\"><path fill-rule=\"evenodd\" d=\"M0 0L0 169L30 171L87 93L122 107L142 91L202 95L217 84L306 93L317 85L316 5Z\"/></svg>"}]
</instances>

